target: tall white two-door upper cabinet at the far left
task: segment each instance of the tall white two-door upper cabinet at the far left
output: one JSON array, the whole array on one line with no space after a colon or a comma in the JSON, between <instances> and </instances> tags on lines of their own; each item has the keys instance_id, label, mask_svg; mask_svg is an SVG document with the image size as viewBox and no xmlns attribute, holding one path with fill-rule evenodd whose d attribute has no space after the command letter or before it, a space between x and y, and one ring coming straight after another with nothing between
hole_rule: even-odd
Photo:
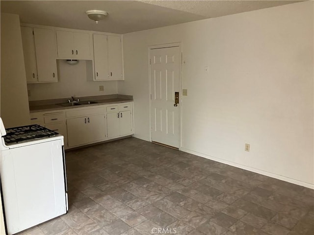
<instances>
[{"instance_id":1,"label":"tall white two-door upper cabinet at the far left","mask_svg":"<svg viewBox=\"0 0 314 235\"><path fill-rule=\"evenodd\" d=\"M55 42L50 28L21 27L28 83L57 82Z\"/></svg>"}]
</instances>

